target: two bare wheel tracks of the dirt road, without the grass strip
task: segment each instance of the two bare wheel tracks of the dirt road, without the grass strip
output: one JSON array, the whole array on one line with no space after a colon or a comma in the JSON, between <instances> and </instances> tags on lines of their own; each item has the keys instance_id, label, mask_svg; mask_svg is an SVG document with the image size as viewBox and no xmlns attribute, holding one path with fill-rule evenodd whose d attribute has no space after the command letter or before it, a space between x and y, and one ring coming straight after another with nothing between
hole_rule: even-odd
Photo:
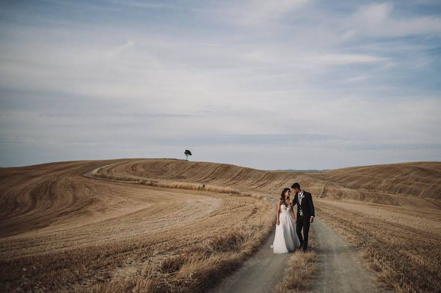
<instances>
[{"instance_id":1,"label":"two bare wheel tracks of the dirt road, without the grass strip","mask_svg":"<svg viewBox=\"0 0 441 293\"><path fill-rule=\"evenodd\" d=\"M312 292L383 292L370 280L371 274L364 267L359 253L320 219L313 223L314 241L319 254L319 276L311 285ZM274 230L265 245L254 258L226 279L211 293L259 293L270 292L281 280L286 261L291 253L274 254L270 245Z\"/></svg>"}]
</instances>

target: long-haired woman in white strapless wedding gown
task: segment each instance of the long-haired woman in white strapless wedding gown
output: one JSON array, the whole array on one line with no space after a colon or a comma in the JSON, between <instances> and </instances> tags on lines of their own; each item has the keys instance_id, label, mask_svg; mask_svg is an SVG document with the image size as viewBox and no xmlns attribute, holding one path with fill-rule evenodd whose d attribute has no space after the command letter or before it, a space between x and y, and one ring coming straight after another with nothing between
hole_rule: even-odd
<instances>
[{"instance_id":1,"label":"long-haired woman in white strapless wedding gown","mask_svg":"<svg viewBox=\"0 0 441 293\"><path fill-rule=\"evenodd\" d=\"M284 188L277 204L277 225L274 242L271 245L274 253L287 253L300 247L300 240L295 233L295 216L291 190Z\"/></svg>"}]
</instances>

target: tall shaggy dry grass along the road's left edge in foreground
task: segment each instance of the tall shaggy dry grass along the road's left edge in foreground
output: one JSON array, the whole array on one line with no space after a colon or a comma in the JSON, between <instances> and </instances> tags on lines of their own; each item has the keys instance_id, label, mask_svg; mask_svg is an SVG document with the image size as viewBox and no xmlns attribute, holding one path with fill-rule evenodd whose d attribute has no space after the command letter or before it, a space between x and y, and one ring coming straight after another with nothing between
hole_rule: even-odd
<instances>
[{"instance_id":1,"label":"tall shaggy dry grass along the road's left edge in foreground","mask_svg":"<svg viewBox=\"0 0 441 293\"><path fill-rule=\"evenodd\" d=\"M264 236L256 226L243 226L221 236L182 249L162 260L154 269L138 266L134 273L102 282L93 292L203 292L242 264ZM253 240L253 241L250 241Z\"/></svg>"}]
</instances>

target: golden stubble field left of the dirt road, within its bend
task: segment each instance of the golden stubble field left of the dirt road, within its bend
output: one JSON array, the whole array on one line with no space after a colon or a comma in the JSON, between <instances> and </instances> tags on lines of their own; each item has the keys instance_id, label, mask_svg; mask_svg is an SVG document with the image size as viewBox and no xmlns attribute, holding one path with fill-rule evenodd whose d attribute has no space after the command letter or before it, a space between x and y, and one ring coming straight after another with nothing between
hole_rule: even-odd
<instances>
[{"instance_id":1,"label":"golden stubble field left of the dirt road, within its bend","mask_svg":"<svg viewBox=\"0 0 441 293\"><path fill-rule=\"evenodd\" d=\"M252 196L82 176L109 162L1 169L1 291L200 292L273 224Z\"/></svg>"}]
</instances>

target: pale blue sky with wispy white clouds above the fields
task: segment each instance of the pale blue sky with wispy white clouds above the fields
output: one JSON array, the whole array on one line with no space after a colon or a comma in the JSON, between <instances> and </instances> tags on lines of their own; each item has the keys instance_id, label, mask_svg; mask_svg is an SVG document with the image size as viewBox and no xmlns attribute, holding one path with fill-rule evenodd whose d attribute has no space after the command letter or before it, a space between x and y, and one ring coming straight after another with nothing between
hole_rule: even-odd
<instances>
[{"instance_id":1,"label":"pale blue sky with wispy white clouds above the fields","mask_svg":"<svg viewBox=\"0 0 441 293\"><path fill-rule=\"evenodd\" d=\"M438 0L0 1L0 166L441 160Z\"/></svg>"}]
</instances>

